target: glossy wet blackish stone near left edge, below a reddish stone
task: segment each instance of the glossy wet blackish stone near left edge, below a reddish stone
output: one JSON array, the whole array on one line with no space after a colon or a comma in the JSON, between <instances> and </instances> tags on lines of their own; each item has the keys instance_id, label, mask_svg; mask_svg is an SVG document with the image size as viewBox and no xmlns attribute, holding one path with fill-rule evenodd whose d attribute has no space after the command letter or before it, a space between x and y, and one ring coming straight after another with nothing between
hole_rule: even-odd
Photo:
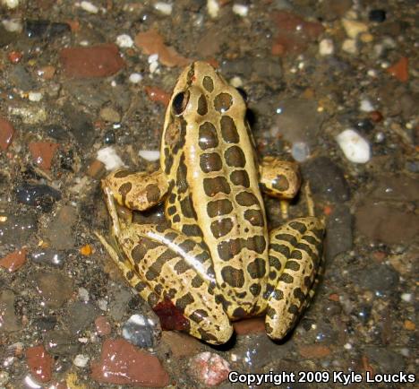
<instances>
[{"instance_id":1,"label":"glossy wet blackish stone near left edge, below a reddish stone","mask_svg":"<svg viewBox=\"0 0 419 389\"><path fill-rule=\"evenodd\" d=\"M16 188L18 203L40 207L43 212L50 212L53 204L61 199L61 193L51 186L43 184L22 184Z\"/></svg>"}]
</instances>

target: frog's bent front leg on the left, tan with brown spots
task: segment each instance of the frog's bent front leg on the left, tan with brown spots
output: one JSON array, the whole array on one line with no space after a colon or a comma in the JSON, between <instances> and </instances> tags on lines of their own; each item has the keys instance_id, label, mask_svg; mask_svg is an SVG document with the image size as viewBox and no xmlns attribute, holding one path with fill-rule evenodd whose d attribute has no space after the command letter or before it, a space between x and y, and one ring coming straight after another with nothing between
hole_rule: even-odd
<instances>
[{"instance_id":1,"label":"frog's bent front leg on the left, tan with brown spots","mask_svg":"<svg viewBox=\"0 0 419 389\"><path fill-rule=\"evenodd\" d=\"M103 179L102 187L109 188L120 205L131 210L144 211L162 201L167 194L168 183L161 170L135 173L120 169Z\"/></svg>"}]
</instances>

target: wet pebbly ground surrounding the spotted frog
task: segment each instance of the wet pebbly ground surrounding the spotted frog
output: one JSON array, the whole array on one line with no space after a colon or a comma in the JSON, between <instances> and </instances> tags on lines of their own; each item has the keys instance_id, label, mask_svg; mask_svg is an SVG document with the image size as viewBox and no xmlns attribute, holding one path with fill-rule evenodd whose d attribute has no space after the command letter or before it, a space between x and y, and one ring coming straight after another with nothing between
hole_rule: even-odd
<instances>
[{"instance_id":1,"label":"wet pebbly ground surrounding the spotted frog","mask_svg":"<svg viewBox=\"0 0 419 389\"><path fill-rule=\"evenodd\" d=\"M415 373L418 11L396 0L3 0L0 388L205 387L228 369L322 371L312 379L328 386L355 372L366 387L367 372ZM300 161L327 220L320 288L279 344L259 319L223 348L161 333L93 235L108 230L99 180L113 153L156 169L167 99L194 59L245 91L260 155ZM300 196L290 216L305 213ZM288 386L321 385L297 378Z\"/></svg>"}]
</instances>

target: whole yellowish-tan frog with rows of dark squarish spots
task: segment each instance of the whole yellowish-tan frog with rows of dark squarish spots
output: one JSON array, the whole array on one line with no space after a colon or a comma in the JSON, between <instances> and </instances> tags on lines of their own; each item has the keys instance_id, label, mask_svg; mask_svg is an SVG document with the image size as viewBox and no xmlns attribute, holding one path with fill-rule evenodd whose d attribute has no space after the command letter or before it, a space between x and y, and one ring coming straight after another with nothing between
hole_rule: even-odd
<instances>
[{"instance_id":1,"label":"whole yellowish-tan frog with rows of dark squarish spots","mask_svg":"<svg viewBox=\"0 0 419 389\"><path fill-rule=\"evenodd\" d=\"M321 263L321 220L268 230L261 190L292 198L300 180L291 162L259 165L245 111L239 91L195 62L167 108L160 169L117 170L102 181L118 248L99 238L124 277L151 307L169 300L185 330L213 344L228 341L231 321L261 314L269 337L283 338ZM164 202L167 225L119 219L115 201L138 211Z\"/></svg>"}]
</instances>

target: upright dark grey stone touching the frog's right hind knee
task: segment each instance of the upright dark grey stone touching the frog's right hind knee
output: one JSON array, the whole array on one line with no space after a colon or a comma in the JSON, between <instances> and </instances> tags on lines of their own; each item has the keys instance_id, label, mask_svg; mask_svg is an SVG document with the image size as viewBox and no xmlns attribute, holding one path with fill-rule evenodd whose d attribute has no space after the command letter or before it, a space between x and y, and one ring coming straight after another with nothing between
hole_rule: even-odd
<instances>
[{"instance_id":1,"label":"upright dark grey stone touching the frog's right hind knee","mask_svg":"<svg viewBox=\"0 0 419 389\"><path fill-rule=\"evenodd\" d=\"M337 204L330 214L326 227L325 254L328 260L352 250L352 214L344 204Z\"/></svg>"}]
</instances>

